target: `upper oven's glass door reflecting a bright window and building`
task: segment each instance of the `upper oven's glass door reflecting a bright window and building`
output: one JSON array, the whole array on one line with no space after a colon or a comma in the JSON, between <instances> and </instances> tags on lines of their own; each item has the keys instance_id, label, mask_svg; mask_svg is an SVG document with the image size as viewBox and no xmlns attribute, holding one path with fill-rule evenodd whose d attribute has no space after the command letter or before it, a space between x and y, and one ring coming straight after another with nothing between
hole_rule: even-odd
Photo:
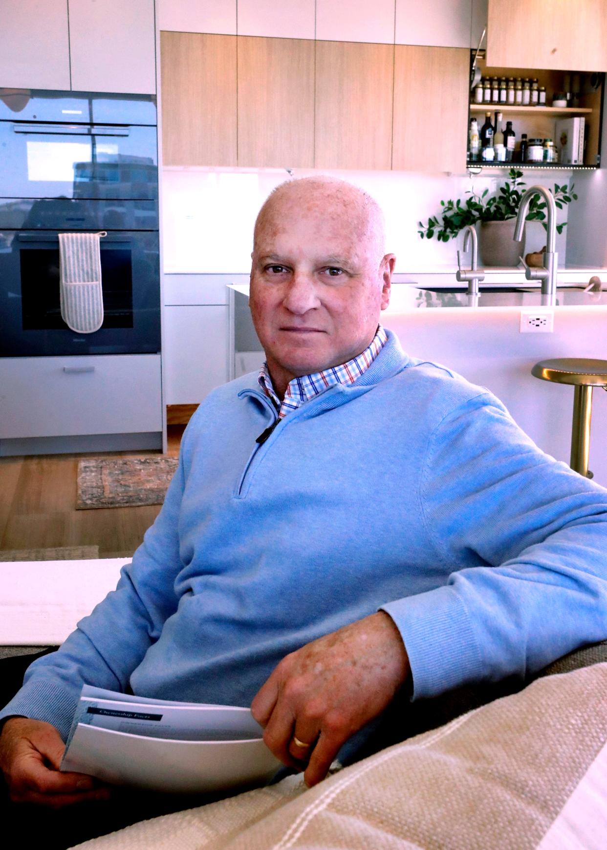
<instances>
[{"instance_id":1,"label":"upper oven's glass door reflecting a bright window and building","mask_svg":"<svg viewBox=\"0 0 607 850\"><path fill-rule=\"evenodd\" d=\"M155 127L0 121L4 198L158 197Z\"/></svg>"}]
</instances>

